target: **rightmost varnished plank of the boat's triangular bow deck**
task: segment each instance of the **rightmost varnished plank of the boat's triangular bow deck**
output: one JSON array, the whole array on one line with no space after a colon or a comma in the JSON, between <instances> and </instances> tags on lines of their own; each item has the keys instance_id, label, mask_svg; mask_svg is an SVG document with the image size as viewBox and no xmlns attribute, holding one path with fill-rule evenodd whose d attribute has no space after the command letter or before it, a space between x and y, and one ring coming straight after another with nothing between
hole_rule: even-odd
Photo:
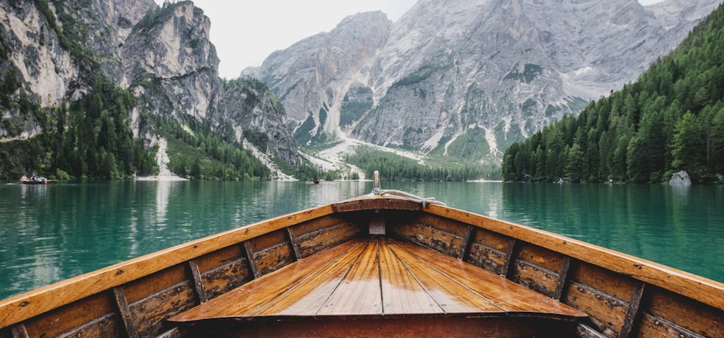
<instances>
[{"instance_id":1,"label":"rightmost varnished plank of the boat's triangular bow deck","mask_svg":"<svg viewBox=\"0 0 724 338\"><path fill-rule=\"evenodd\" d=\"M458 261L447 255L434 253L430 250L419 250L415 245L405 242L395 242L395 246L411 252L419 261L428 264L437 271L444 272L447 278L464 285L479 297L489 300L500 310L508 311L509 314L540 313L560 316L561 318L586 316L581 311L556 302L550 297L533 292L509 279L492 274L490 271L477 266Z\"/></svg>"}]
</instances>

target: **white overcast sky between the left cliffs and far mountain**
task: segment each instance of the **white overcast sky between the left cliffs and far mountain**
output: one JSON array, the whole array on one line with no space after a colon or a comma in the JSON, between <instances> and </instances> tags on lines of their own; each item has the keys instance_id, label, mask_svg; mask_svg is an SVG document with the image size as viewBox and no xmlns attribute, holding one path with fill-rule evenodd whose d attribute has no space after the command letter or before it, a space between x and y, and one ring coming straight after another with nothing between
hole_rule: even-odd
<instances>
[{"instance_id":1,"label":"white overcast sky between the left cliffs and far mountain","mask_svg":"<svg viewBox=\"0 0 724 338\"><path fill-rule=\"evenodd\" d=\"M652 4L662 0L639 0ZM686 1L686 0L683 0ZM221 62L219 76L232 79L260 66L271 52L329 32L345 17L381 10L397 21L416 0L193 0L211 19L211 43ZM156 0L163 4L164 0Z\"/></svg>"}]
</instances>

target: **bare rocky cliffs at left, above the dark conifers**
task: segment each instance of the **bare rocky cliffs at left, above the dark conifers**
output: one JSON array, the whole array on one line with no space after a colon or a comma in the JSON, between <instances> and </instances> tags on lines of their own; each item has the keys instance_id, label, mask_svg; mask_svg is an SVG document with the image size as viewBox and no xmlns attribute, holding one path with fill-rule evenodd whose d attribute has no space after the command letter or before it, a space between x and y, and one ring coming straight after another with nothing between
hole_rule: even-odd
<instances>
[{"instance_id":1,"label":"bare rocky cliffs at left, above the dark conifers","mask_svg":"<svg viewBox=\"0 0 724 338\"><path fill-rule=\"evenodd\" d=\"M142 116L179 124L194 119L212 130L237 130L239 139L242 130L270 132L262 151L296 164L285 112L271 92L219 79L210 26L191 1L161 9L153 0L0 0L0 84L9 96L0 107L0 141L42 132L38 120L54 116L41 115L83 100L100 76L138 98L138 106L129 109L131 128L147 145L156 132ZM240 96L256 100L243 105ZM264 118L258 118L260 111Z\"/></svg>"}]
</instances>

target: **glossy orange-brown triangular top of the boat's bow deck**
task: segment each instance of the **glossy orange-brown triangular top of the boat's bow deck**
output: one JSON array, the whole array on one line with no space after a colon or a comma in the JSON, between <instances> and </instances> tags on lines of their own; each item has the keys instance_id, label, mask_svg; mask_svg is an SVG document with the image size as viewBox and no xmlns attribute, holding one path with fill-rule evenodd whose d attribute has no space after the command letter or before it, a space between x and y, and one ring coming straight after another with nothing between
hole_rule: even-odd
<instances>
[{"instance_id":1,"label":"glossy orange-brown triangular top of the boat's bow deck","mask_svg":"<svg viewBox=\"0 0 724 338\"><path fill-rule=\"evenodd\" d=\"M169 321L298 316L586 316L489 271L384 237L350 240Z\"/></svg>"}]
</instances>

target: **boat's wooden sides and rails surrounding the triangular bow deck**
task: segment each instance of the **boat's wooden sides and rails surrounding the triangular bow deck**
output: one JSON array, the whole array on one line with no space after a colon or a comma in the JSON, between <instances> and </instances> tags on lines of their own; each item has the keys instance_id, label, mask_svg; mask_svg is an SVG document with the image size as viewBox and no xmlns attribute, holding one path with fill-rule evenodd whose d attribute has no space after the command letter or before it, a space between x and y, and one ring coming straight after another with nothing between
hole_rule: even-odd
<instances>
[{"instance_id":1,"label":"boat's wooden sides and rails surrounding the triangular bow deck","mask_svg":"<svg viewBox=\"0 0 724 338\"><path fill-rule=\"evenodd\" d=\"M196 337L203 332L194 330L203 324L169 318L340 243L370 236L370 224L379 228L381 223L386 237L484 269L585 313L568 332L574 336L724 337L724 284L719 282L455 208L369 196L242 226L0 301L0 338ZM328 328L331 337L376 326L421 330L413 335L458 326L457 335L469 334L462 329L465 318L454 316L344 320L307 318L266 329L259 321L241 324L272 335L316 327ZM510 318L486 321L483 330L517 326ZM214 328L220 337L244 332L238 325Z\"/></svg>"}]
</instances>

